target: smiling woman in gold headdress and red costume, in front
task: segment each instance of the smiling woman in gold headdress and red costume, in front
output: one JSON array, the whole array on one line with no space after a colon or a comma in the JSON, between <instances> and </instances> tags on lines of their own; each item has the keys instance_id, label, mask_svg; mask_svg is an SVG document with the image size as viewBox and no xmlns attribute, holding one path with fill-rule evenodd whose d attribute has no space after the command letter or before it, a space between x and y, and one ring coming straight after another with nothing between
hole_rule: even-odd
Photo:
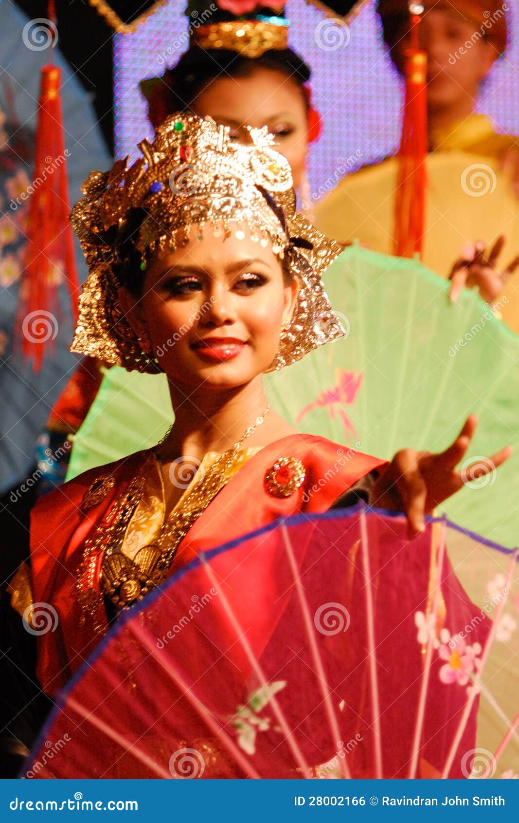
<instances>
[{"instance_id":1,"label":"smiling woman in gold headdress and red costume, in front","mask_svg":"<svg viewBox=\"0 0 519 823\"><path fill-rule=\"evenodd\" d=\"M475 430L469 418L438 455L340 460L341 445L271 412L263 375L344 333L321 279L341 247L295 213L290 166L264 131L241 145L212 119L177 114L141 151L129 169L92 173L73 209L90 273L72 348L164 372L174 424L34 510L35 602L58 616L39 637L50 695L121 611L224 540L359 498L404 509L410 535L423 532L424 514L463 485L455 467ZM168 181L187 154L192 188L178 192Z\"/></svg>"}]
</instances>

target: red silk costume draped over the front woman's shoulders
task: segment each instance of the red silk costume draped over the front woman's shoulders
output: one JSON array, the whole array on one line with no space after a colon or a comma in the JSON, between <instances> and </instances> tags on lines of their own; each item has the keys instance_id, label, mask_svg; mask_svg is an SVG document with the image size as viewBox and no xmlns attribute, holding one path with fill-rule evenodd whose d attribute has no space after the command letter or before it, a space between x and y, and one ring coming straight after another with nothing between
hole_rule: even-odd
<instances>
[{"instance_id":1,"label":"red silk costume draped over the front woman's shoulders","mask_svg":"<svg viewBox=\"0 0 519 823\"><path fill-rule=\"evenodd\" d=\"M287 497L267 491L265 477L279 458L296 458L304 465L302 486ZM110 509L127 490L143 453L95 468L42 498L31 518L31 566L35 603L49 603L58 625L39 638L38 677L48 694L61 688L99 641L94 622L81 610L77 579L85 541L102 527ZM211 500L190 528L171 565L176 571L224 542L271 523L279 517L327 511L334 501L373 468L378 458L345 450L312 435L291 435L261 449L239 469ZM81 503L99 478L114 477L114 485L87 512ZM98 570L100 568L100 560ZM99 591L99 573L96 575ZM104 616L104 628L107 621Z\"/></svg>"}]
</instances>

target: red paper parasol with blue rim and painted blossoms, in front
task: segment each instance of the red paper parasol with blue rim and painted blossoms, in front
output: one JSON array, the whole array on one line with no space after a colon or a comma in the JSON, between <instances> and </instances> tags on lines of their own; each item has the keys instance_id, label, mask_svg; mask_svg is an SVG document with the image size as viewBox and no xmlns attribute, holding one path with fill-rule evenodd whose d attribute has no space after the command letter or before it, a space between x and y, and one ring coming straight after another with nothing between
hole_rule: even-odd
<instances>
[{"instance_id":1,"label":"red paper parasol with blue rim and painted blossoms, in front","mask_svg":"<svg viewBox=\"0 0 519 823\"><path fill-rule=\"evenodd\" d=\"M483 607L446 543L469 570L487 557ZM405 518L364 508L274 523L118 618L24 776L498 776L517 754L516 569L447 521L413 542Z\"/></svg>"}]
</instances>

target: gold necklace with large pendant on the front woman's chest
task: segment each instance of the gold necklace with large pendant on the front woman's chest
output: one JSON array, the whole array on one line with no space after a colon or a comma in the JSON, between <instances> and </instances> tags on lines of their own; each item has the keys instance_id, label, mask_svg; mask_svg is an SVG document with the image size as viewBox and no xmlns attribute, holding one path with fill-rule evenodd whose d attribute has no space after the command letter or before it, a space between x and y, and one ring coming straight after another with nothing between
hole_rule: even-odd
<instances>
[{"instance_id":1,"label":"gold necklace with large pendant on the front woman's chest","mask_svg":"<svg viewBox=\"0 0 519 823\"><path fill-rule=\"evenodd\" d=\"M151 588L155 588L168 576L169 566L177 553L178 546L211 500L226 485L229 479L229 469L239 458L240 446L253 434L258 425L262 425L270 409L270 404L268 404L265 412L248 426L232 449L221 453L207 472L201 475L189 491L182 508L177 510L175 507L169 518L165 518L155 544L143 546L137 551L133 560L121 551L106 552L101 565L100 586L104 595L109 597L116 607L127 608L141 600ZM165 438L167 436L165 435ZM157 452L165 438L154 449L159 463L160 457Z\"/></svg>"}]
</instances>

